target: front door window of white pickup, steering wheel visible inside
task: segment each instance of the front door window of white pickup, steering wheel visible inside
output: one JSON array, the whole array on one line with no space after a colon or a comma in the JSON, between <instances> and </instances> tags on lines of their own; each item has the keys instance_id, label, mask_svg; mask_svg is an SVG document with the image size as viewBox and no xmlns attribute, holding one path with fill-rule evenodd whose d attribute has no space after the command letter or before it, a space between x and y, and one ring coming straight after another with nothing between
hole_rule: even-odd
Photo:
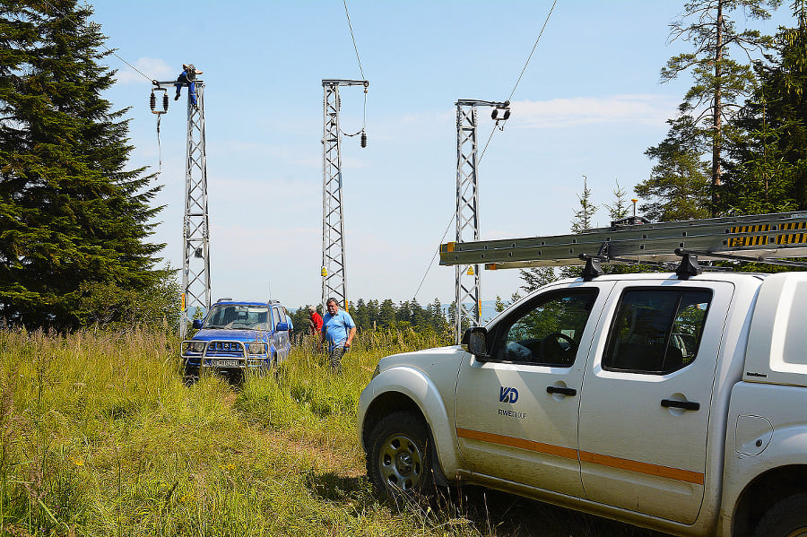
<instances>
[{"instance_id":1,"label":"front door window of white pickup, steering wheel visible inside","mask_svg":"<svg viewBox=\"0 0 807 537\"><path fill-rule=\"evenodd\" d=\"M550 292L519 307L499 324L491 359L571 367L597 292Z\"/></svg>"}]
</instances>

